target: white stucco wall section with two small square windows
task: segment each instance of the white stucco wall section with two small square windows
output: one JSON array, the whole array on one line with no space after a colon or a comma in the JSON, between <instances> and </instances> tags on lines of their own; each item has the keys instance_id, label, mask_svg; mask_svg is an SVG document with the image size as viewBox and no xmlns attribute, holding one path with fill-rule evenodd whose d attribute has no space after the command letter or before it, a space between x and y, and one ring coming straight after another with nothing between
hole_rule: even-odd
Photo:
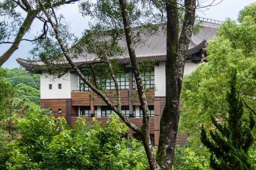
<instances>
[{"instance_id":1,"label":"white stucco wall section with two small square windows","mask_svg":"<svg viewBox=\"0 0 256 170\"><path fill-rule=\"evenodd\" d=\"M47 73L42 73L41 78L41 99L70 99L70 72L64 74L61 78L52 79L52 76L45 77ZM52 84L52 89L49 89L49 84ZM61 89L58 89L58 84L61 84Z\"/></svg>"}]
</instances>

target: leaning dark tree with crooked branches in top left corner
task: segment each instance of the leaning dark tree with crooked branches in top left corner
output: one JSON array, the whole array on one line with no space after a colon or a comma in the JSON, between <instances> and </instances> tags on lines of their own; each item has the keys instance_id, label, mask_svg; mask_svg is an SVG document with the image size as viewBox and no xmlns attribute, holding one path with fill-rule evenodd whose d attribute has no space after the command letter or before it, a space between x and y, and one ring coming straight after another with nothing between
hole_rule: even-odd
<instances>
[{"instance_id":1,"label":"leaning dark tree with crooked branches in top left corner","mask_svg":"<svg viewBox=\"0 0 256 170\"><path fill-rule=\"evenodd\" d=\"M54 0L52 8L58 8L61 5L74 3L78 0ZM45 4L46 8L50 8L49 4ZM23 17L22 12L26 17ZM19 48L21 41L34 41L23 39L24 35L29 31L33 21L37 18L44 23L43 33L35 40L41 39L47 35L47 20L41 17L42 9L35 0L3 0L0 2L0 15L5 16L0 20L0 44L12 44L11 47L0 56L0 66L6 62L12 54ZM13 40L14 41L10 41Z\"/></svg>"}]
</instances>

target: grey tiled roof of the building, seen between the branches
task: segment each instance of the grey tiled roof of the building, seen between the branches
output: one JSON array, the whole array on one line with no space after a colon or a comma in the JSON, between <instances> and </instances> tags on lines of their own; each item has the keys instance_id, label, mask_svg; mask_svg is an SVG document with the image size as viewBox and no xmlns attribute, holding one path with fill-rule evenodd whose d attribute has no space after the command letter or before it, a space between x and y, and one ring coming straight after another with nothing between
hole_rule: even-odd
<instances>
[{"instance_id":1,"label":"grey tiled roof of the building, seen between the branches","mask_svg":"<svg viewBox=\"0 0 256 170\"><path fill-rule=\"evenodd\" d=\"M198 20L196 20L198 22ZM200 31L196 35L192 35L191 42L189 44L189 49L187 51L187 55L192 55L200 51L202 48L207 47L207 41L211 40L212 37L216 34L218 31L218 24L216 23L210 23L203 21L202 25L204 25L203 28L200 28ZM164 61L166 57L166 35L165 31L163 31L163 28L160 28L158 31L154 32L154 34L142 34L141 39L143 40L142 43L138 44L137 46L134 46L137 59L145 60L149 58L154 58L156 61ZM122 47L126 47L126 41L119 40L119 45ZM119 58L119 62L121 63L129 63L128 58L128 52L125 56L122 56ZM75 62L77 65L80 65L81 63L86 64L86 62L92 61L96 59L96 56L93 54L86 54L81 53L79 57L76 59L73 59L73 62ZM17 62L26 67L26 68L32 68L32 64L36 65L43 65L40 61L35 62L29 62L26 59L18 58L16 59Z\"/></svg>"}]
</instances>

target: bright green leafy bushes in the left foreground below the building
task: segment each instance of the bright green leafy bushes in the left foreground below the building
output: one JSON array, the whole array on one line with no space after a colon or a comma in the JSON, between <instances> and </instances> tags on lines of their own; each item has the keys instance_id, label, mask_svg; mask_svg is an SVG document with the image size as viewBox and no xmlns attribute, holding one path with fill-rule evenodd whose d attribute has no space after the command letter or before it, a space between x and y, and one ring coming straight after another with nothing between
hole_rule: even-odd
<instances>
[{"instance_id":1,"label":"bright green leafy bushes in the left foreground below the building","mask_svg":"<svg viewBox=\"0 0 256 170\"><path fill-rule=\"evenodd\" d=\"M42 116L38 107L32 107L27 119L18 119L21 137L0 153L0 166L9 170L148 170L142 145L134 139L127 147L122 136L128 127L116 115L105 127L96 119L93 123L80 118L70 129L63 118Z\"/></svg>"}]
</instances>

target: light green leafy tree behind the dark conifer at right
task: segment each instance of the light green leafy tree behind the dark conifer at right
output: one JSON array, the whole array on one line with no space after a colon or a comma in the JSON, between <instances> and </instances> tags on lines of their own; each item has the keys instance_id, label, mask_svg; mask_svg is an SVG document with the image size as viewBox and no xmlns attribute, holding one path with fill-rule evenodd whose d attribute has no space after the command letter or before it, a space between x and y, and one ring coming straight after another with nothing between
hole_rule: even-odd
<instances>
[{"instance_id":1,"label":"light green leafy tree behind the dark conifer at right","mask_svg":"<svg viewBox=\"0 0 256 170\"><path fill-rule=\"evenodd\" d=\"M201 145L199 127L202 123L206 129L212 127L211 114L216 119L227 120L224 114L229 109L226 91L230 88L228 80L234 67L238 72L237 87L244 102L245 115L249 116L249 111L256 115L256 69L253 66L256 63L256 23L254 15L245 15L244 12L251 6L255 4L240 11L239 24L227 19L220 25L218 37L208 42L208 63L200 64L193 73L184 77L180 130L188 133L198 147Z\"/></svg>"}]
</instances>

